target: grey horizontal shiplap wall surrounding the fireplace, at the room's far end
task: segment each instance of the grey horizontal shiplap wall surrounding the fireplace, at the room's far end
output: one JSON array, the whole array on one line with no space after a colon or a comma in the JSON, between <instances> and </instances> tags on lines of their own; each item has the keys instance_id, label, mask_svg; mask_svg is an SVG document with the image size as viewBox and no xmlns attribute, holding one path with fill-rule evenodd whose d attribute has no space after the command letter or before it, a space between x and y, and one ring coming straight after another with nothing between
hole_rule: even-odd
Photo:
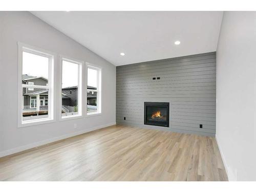
<instances>
[{"instance_id":1,"label":"grey horizontal shiplap wall surrounding the fireplace, at the room's far end","mask_svg":"<svg viewBox=\"0 0 256 192\"><path fill-rule=\"evenodd\" d=\"M143 102L164 99L170 101L170 127L144 125ZM216 52L118 66L116 122L215 135Z\"/></svg>"}]
</instances>

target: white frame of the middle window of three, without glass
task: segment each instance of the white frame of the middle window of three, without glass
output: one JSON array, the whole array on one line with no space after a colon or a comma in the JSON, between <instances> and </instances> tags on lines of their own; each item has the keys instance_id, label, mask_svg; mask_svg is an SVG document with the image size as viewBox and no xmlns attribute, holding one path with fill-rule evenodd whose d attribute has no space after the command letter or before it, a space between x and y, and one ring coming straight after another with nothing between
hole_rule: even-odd
<instances>
[{"instance_id":1,"label":"white frame of the middle window of three, without glass","mask_svg":"<svg viewBox=\"0 0 256 192\"><path fill-rule=\"evenodd\" d=\"M58 97L58 100L59 100L59 119L60 120L69 120L69 119L77 119L77 118L82 118L83 117L83 108L82 108L82 92L83 92L83 89L82 89L82 70L83 70L83 61L81 60L77 60L77 59L74 59L74 58L70 58L70 57L67 57L67 56L61 56L60 55L60 89L59 89L59 97ZM77 115L68 115L68 116L62 116L61 114L61 111L62 111L62 61L68 61L68 62L72 62L72 63L75 63L78 65L78 87L77 87L77 106L78 106L78 114ZM59 99L60 98L60 99Z\"/></svg>"}]
</instances>

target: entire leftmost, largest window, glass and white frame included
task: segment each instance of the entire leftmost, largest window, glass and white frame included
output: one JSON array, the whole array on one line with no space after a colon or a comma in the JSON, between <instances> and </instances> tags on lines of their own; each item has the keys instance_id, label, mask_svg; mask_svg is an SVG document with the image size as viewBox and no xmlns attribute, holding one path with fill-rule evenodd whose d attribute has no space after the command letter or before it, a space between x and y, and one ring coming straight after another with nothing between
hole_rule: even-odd
<instances>
[{"instance_id":1,"label":"entire leftmost, largest window, glass and white frame included","mask_svg":"<svg viewBox=\"0 0 256 192\"><path fill-rule=\"evenodd\" d=\"M19 44L19 126L53 120L53 58Z\"/></svg>"}]
</instances>

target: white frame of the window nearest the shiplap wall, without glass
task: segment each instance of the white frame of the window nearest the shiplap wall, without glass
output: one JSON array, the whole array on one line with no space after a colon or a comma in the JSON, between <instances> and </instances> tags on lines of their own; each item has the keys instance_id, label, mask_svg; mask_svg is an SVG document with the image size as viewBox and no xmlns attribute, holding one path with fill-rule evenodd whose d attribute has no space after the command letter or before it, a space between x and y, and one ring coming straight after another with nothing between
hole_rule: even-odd
<instances>
[{"instance_id":1,"label":"white frame of the window nearest the shiplap wall, without glass","mask_svg":"<svg viewBox=\"0 0 256 192\"><path fill-rule=\"evenodd\" d=\"M91 90L91 89L87 89L87 78L88 78L88 68L89 69L94 69L97 70L97 89L96 90ZM94 116L94 115L101 115L102 111L101 111L101 103L102 103L102 91L101 91L101 84L102 84L102 68L98 67L97 65L93 65L89 62L86 63L86 100L87 100L87 92L91 91L91 92L97 92L97 111L96 112L92 112L92 113L88 113L87 112L87 102L86 102L86 115L87 117L89 116Z\"/></svg>"}]
</instances>

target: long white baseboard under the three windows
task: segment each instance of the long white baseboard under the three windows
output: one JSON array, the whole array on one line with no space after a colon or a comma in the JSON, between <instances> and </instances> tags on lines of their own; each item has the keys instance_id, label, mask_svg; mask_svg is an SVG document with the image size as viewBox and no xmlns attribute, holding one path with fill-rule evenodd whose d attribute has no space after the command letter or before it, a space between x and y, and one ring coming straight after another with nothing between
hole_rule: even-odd
<instances>
[{"instance_id":1,"label":"long white baseboard under the three windows","mask_svg":"<svg viewBox=\"0 0 256 192\"><path fill-rule=\"evenodd\" d=\"M15 154L15 153L22 152L22 151L25 151L25 150L29 150L31 148L38 147L40 145L45 145L45 144L52 143L52 142L55 142L55 141L58 141L58 140L61 140L61 139L67 139L69 137L74 137L76 135L81 135L83 133L88 133L88 132L98 130L98 129L102 129L104 127L115 125L115 124L116 124L116 122L108 123L108 124L104 124L104 125L100 125L100 126L95 126L95 127L90 128L90 129L87 129L87 130L82 130L82 131L78 131L78 132L74 132L74 133L70 133L70 134L66 134L66 135L61 135L61 136L54 137L54 138L51 138L51 139L47 139L47 140L44 140L44 141L39 141L39 142L36 142L36 143L31 143L31 144L19 146L19 147L16 147L16 148L12 148L10 150L0 152L0 157L4 157L4 156L7 156L7 155L11 155L11 154Z\"/></svg>"}]
</instances>

